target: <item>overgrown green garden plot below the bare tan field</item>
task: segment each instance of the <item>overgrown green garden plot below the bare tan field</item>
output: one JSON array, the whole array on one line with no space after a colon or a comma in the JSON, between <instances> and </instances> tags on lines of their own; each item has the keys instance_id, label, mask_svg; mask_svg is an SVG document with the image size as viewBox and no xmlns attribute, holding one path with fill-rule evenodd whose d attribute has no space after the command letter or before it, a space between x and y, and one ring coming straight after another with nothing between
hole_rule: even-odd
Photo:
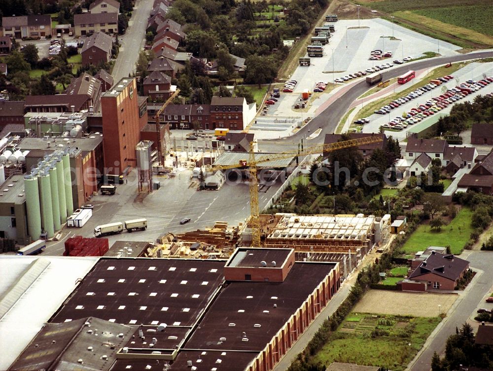
<instances>
[{"instance_id":1,"label":"overgrown green garden plot below the bare tan field","mask_svg":"<svg viewBox=\"0 0 493 371\"><path fill-rule=\"evenodd\" d=\"M403 371L441 321L369 313L351 313L348 318L314 356L314 364L347 362Z\"/></svg>"}]
</instances>

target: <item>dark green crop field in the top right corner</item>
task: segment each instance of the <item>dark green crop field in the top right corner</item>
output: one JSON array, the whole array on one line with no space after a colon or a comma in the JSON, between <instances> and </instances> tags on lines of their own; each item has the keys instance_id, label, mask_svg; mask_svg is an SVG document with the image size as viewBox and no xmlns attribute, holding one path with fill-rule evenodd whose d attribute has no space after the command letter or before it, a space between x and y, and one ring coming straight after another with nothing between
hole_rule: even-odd
<instances>
[{"instance_id":1,"label":"dark green crop field in the top right corner","mask_svg":"<svg viewBox=\"0 0 493 371\"><path fill-rule=\"evenodd\" d=\"M448 5L448 2L447 2ZM492 2L486 5L448 6L415 10L414 13L440 22L493 36Z\"/></svg>"}]
</instances>

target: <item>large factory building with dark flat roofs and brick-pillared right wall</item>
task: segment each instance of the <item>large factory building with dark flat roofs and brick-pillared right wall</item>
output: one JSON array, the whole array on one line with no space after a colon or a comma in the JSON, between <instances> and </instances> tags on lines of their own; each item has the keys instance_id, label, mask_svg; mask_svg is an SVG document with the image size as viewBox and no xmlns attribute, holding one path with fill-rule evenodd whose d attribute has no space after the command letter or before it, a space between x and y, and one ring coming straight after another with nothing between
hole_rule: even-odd
<instances>
[{"instance_id":1,"label":"large factory building with dark flat roofs and brick-pillared right wall","mask_svg":"<svg viewBox=\"0 0 493 371\"><path fill-rule=\"evenodd\" d=\"M7 369L270 371L339 289L337 263L295 262L294 254L102 258L58 310L36 313L51 318L44 329L36 322L37 334L20 334Z\"/></svg>"}]
</instances>

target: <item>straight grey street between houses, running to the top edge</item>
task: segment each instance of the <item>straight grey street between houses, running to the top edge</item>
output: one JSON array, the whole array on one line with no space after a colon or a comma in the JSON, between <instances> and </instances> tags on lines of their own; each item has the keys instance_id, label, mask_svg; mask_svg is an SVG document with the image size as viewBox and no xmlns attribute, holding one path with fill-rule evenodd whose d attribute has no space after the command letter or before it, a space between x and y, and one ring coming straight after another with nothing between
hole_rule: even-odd
<instances>
[{"instance_id":1,"label":"straight grey street between houses, running to the top edge","mask_svg":"<svg viewBox=\"0 0 493 371\"><path fill-rule=\"evenodd\" d=\"M132 12L130 26L126 33L120 37L120 52L112 72L115 82L128 77L135 71L139 52L144 47L145 27L151 9L152 0L137 0Z\"/></svg>"}]
</instances>

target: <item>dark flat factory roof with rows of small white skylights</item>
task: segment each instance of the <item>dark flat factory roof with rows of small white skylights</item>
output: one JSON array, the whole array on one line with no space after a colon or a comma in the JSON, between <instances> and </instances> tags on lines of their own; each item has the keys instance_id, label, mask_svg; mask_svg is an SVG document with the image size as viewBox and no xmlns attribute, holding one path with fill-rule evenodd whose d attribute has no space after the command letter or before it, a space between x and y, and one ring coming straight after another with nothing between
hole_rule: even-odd
<instances>
[{"instance_id":1,"label":"dark flat factory roof with rows of small white skylights","mask_svg":"<svg viewBox=\"0 0 493 371\"><path fill-rule=\"evenodd\" d=\"M50 322L94 316L192 326L223 280L223 261L102 259Z\"/></svg>"}]
</instances>

